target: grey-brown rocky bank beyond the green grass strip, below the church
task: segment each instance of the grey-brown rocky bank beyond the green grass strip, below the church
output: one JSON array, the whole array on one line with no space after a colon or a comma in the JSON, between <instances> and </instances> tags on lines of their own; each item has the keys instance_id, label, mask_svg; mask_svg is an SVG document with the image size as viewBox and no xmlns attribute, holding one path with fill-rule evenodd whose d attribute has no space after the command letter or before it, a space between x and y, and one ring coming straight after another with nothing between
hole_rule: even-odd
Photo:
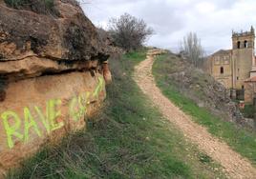
<instances>
[{"instance_id":1,"label":"grey-brown rocky bank beyond the green grass strip, below the church","mask_svg":"<svg viewBox=\"0 0 256 179\"><path fill-rule=\"evenodd\" d=\"M198 107L209 109L225 121L249 126L236 104L230 99L229 91L208 73L172 53L159 65L159 69L167 74L165 80Z\"/></svg>"}]
</instances>

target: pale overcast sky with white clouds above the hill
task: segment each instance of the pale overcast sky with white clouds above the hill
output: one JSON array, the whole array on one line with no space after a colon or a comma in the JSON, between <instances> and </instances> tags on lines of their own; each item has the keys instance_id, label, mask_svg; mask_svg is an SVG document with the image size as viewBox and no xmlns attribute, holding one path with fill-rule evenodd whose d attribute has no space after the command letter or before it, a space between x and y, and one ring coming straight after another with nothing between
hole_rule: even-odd
<instances>
[{"instance_id":1,"label":"pale overcast sky with white clouds above the hill","mask_svg":"<svg viewBox=\"0 0 256 179\"><path fill-rule=\"evenodd\" d=\"M256 25L256 0L80 0L96 26L128 12L155 30L147 45L178 50L189 31L198 33L210 53L231 49L232 30Z\"/></svg>"}]
</instances>

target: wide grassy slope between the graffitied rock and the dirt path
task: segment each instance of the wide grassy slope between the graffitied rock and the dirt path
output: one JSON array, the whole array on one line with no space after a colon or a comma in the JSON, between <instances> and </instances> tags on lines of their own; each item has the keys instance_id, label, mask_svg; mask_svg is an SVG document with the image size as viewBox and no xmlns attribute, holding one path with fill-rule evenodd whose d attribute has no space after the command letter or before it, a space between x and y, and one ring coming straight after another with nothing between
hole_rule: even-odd
<instances>
[{"instance_id":1,"label":"wide grassy slope between the graffitied rock and the dirt path","mask_svg":"<svg viewBox=\"0 0 256 179\"><path fill-rule=\"evenodd\" d=\"M145 53L112 59L113 83L87 129L38 152L8 178L224 178L153 108L132 79Z\"/></svg>"}]
</instances>

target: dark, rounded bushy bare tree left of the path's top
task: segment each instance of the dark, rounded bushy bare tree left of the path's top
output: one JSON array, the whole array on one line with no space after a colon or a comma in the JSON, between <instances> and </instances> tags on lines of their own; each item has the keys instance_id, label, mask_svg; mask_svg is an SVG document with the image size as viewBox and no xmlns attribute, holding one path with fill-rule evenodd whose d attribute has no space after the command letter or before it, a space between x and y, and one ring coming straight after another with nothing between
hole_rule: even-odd
<instances>
[{"instance_id":1,"label":"dark, rounded bushy bare tree left of the path's top","mask_svg":"<svg viewBox=\"0 0 256 179\"><path fill-rule=\"evenodd\" d=\"M123 50L138 50L153 30L147 24L128 13L109 21L109 30L115 44Z\"/></svg>"}]
</instances>

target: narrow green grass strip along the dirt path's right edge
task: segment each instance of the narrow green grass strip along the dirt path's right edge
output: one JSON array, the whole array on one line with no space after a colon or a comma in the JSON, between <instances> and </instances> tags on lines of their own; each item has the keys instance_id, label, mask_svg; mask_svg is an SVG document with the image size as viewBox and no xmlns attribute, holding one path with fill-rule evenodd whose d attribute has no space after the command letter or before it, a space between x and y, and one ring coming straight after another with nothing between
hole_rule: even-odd
<instances>
[{"instance_id":1,"label":"narrow green grass strip along the dirt path's right edge","mask_svg":"<svg viewBox=\"0 0 256 179\"><path fill-rule=\"evenodd\" d=\"M224 140L232 149L241 153L256 166L256 133L247 129L238 128L232 123L225 122L213 115L208 109L198 105L180 91L168 79L168 64L172 59L169 55L161 55L155 62L153 73L162 93L193 120L208 129L210 133Z\"/></svg>"}]
</instances>

